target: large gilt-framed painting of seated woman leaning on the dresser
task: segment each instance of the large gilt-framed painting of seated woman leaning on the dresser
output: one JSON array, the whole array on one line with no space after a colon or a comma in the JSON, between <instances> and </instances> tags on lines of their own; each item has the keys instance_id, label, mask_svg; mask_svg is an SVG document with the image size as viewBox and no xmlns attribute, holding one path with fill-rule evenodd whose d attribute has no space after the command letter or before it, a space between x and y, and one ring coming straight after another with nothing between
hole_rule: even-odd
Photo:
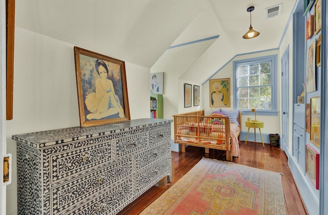
<instances>
[{"instance_id":1,"label":"large gilt-framed painting of seated woman leaning on the dresser","mask_svg":"<svg viewBox=\"0 0 328 215\"><path fill-rule=\"evenodd\" d=\"M74 47L81 127L130 120L125 62Z\"/></svg>"}]
</instances>

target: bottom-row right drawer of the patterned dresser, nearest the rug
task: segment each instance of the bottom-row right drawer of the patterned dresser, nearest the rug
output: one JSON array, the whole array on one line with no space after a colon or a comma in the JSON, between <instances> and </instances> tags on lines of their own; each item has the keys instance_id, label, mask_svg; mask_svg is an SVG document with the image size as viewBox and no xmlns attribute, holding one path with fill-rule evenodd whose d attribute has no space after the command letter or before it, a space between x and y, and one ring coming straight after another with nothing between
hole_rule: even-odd
<instances>
[{"instance_id":1,"label":"bottom-row right drawer of the patterned dresser, nearest the rug","mask_svg":"<svg viewBox=\"0 0 328 215\"><path fill-rule=\"evenodd\" d=\"M136 193L140 195L163 177L171 175L171 159L163 157L136 174Z\"/></svg>"}]
</instances>

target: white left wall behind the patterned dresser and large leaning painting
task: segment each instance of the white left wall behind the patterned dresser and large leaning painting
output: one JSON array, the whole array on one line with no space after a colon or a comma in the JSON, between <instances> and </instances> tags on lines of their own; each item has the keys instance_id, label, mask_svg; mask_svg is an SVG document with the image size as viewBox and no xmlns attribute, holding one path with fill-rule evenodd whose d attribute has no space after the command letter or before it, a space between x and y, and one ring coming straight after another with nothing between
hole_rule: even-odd
<instances>
[{"instance_id":1,"label":"white left wall behind the patterned dresser and large leaning painting","mask_svg":"<svg viewBox=\"0 0 328 215\"><path fill-rule=\"evenodd\" d=\"M15 28L13 120L6 124L7 148L13 158L7 214L17 213L16 142L11 136L79 126L73 47ZM110 51L101 54L111 56ZM150 69L125 63L131 119L149 118Z\"/></svg>"}]
</instances>

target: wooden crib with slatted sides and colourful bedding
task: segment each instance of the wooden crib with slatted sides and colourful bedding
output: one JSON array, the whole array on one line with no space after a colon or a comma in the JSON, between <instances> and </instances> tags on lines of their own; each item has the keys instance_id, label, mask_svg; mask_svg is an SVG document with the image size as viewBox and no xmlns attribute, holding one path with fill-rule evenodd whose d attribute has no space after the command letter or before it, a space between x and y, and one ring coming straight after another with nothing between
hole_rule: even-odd
<instances>
[{"instance_id":1,"label":"wooden crib with slatted sides and colourful bedding","mask_svg":"<svg viewBox=\"0 0 328 215\"><path fill-rule=\"evenodd\" d=\"M179 143L181 152L186 152L185 145L226 150L227 160L239 156L239 135L241 132L241 112L239 125L230 123L229 117L222 114L204 116L204 110L178 114L174 119L174 142ZM235 152L238 151L238 156ZM235 149L235 150L234 150Z\"/></svg>"}]
</instances>

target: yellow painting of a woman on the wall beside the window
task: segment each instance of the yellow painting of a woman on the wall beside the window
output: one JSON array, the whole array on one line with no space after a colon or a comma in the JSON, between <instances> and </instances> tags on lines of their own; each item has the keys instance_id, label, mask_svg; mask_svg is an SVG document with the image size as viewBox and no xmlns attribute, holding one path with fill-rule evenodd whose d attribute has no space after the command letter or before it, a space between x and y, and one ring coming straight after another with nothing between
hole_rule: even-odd
<instances>
[{"instance_id":1,"label":"yellow painting of a woman on the wall beside the window","mask_svg":"<svg viewBox=\"0 0 328 215\"><path fill-rule=\"evenodd\" d=\"M210 107L230 107L230 78L210 79Z\"/></svg>"}]
</instances>

